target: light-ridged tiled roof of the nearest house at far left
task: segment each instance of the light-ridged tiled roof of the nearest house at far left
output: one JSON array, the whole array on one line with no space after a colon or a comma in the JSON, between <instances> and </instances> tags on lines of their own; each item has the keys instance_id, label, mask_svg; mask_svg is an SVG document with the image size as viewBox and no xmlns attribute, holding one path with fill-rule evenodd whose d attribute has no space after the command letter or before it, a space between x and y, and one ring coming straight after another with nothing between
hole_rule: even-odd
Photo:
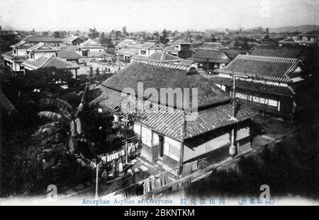
<instances>
[{"instance_id":1,"label":"light-ridged tiled roof of the nearest house at far left","mask_svg":"<svg viewBox=\"0 0 319 220\"><path fill-rule=\"evenodd\" d=\"M38 70L44 67L55 67L57 69L79 69L79 65L76 62L69 62L63 60L55 55L43 55L36 60L26 60L22 63L26 67L30 67L33 70Z\"/></svg>"}]
</instances>

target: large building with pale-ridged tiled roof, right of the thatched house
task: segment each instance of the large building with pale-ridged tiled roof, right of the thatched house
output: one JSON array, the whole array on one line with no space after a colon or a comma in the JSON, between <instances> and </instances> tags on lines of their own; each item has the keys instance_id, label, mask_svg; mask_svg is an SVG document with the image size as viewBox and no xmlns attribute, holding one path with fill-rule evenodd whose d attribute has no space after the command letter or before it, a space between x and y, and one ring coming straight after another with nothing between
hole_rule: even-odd
<instances>
[{"instance_id":1,"label":"large building with pale-ridged tiled roof, right of the thatched house","mask_svg":"<svg viewBox=\"0 0 319 220\"><path fill-rule=\"evenodd\" d=\"M303 80L303 62L284 57L238 55L212 76L212 82L231 94L232 77L237 78L236 96L258 109L292 119L294 85Z\"/></svg>"}]
</instances>

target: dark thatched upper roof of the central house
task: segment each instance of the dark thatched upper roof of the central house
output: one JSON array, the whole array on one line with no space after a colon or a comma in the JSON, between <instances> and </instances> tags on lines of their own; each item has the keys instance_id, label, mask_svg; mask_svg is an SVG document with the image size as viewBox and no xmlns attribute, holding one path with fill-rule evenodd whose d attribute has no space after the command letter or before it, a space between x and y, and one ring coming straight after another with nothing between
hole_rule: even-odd
<instances>
[{"instance_id":1,"label":"dark thatched upper roof of the central house","mask_svg":"<svg viewBox=\"0 0 319 220\"><path fill-rule=\"evenodd\" d=\"M150 98L155 102L160 100L161 88L181 89L183 94L184 91L186 91L185 89L189 89L190 92L187 98L189 98L190 105L193 99L191 88L198 89L198 108L212 106L230 100L228 94L216 85L211 84L208 79L201 77L201 75L190 66L147 60L131 62L128 67L125 67L112 77L106 79L103 82L103 86L117 91L131 88L134 89L137 94L138 82L143 84L144 89L154 88L157 90L159 99L157 100L156 97ZM181 108L181 104L177 103L176 100L174 100L174 104L167 104Z\"/></svg>"}]
</instances>

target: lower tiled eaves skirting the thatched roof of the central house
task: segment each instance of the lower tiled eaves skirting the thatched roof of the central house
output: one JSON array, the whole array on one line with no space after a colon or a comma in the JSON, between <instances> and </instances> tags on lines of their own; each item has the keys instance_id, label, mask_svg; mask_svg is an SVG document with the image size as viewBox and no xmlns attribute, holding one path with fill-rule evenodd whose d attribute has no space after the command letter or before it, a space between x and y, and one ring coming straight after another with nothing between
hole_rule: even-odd
<instances>
[{"instance_id":1,"label":"lower tiled eaves skirting the thatched roof of the central house","mask_svg":"<svg viewBox=\"0 0 319 220\"><path fill-rule=\"evenodd\" d=\"M114 89L99 85L95 88L91 88L91 92L95 94L95 97L108 98L105 101L101 101L99 105L111 111L118 113L117 109L124 106L125 101L133 103L134 97L123 94ZM127 103L127 102L126 102ZM134 102L136 103L136 102ZM137 101L138 109L140 111L139 123L151 128L154 131L162 133L165 136L181 140L181 126L182 126L182 111L179 109L173 109L168 106L155 104L150 101ZM123 105L122 105L123 104ZM142 108L144 106L144 108ZM121 108L123 111L123 108ZM159 109L159 111L155 111ZM127 113L134 113L135 110L127 109ZM232 104L223 104L210 109L198 111L198 117L194 121L186 121L185 126L185 139L200 136L203 133L213 131L224 126L245 121L256 116L256 112L250 109L250 107L242 105L237 113L236 119L230 118L232 114ZM194 119L194 118L193 118Z\"/></svg>"}]
</instances>

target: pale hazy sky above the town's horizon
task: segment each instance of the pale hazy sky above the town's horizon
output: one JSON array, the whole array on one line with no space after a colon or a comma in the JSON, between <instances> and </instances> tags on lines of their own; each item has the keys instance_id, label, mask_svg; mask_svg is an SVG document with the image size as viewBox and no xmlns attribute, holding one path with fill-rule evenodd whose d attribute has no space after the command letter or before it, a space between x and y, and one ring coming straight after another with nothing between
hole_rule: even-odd
<instances>
[{"instance_id":1,"label":"pale hazy sky above the town's horizon","mask_svg":"<svg viewBox=\"0 0 319 220\"><path fill-rule=\"evenodd\" d=\"M1 0L0 25L30 31L204 31L319 25L318 0Z\"/></svg>"}]
</instances>

